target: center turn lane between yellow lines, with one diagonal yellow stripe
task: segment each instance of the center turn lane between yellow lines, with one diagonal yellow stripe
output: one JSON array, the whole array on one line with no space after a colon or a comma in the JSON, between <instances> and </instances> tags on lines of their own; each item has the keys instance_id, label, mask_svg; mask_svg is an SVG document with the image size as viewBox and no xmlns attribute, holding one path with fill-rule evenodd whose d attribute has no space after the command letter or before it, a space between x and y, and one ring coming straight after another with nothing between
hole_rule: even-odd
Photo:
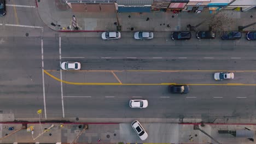
<instances>
[{"instance_id":1,"label":"center turn lane between yellow lines, with one diagonal yellow stripe","mask_svg":"<svg viewBox=\"0 0 256 144\"><path fill-rule=\"evenodd\" d=\"M71 85L256 85L256 71L232 71L234 79L215 80L214 73L221 70L62 70L47 71L45 74L55 80Z\"/></svg>"}]
</instances>

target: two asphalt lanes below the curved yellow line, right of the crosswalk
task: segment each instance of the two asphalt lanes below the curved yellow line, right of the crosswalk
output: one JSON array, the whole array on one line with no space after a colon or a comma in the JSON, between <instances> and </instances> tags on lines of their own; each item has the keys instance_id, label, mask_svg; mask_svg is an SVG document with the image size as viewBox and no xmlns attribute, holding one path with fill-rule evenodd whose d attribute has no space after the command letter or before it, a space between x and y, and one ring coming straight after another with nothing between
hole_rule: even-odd
<instances>
[{"instance_id":1,"label":"two asphalt lanes below the curved yellow line, right of the crosswalk","mask_svg":"<svg viewBox=\"0 0 256 144\"><path fill-rule=\"evenodd\" d=\"M86 93L86 90L84 90L80 94L71 94L72 97L64 97L65 111L68 113L68 117L113 118L179 118L179 115L195 118L200 118L202 115L248 117L246 114L255 113L253 112L255 87L242 87L241 92L236 91L236 86L232 88L218 87L218 89L214 86L201 88L191 86L190 88L189 94L170 94L164 86L119 86L115 88L115 91L110 91L109 86L107 88L90 86ZM80 87L80 89L87 88ZM212 91L211 89L217 90ZM247 98L237 98L244 97L245 92ZM223 98L219 98L220 95ZM130 109L130 99L147 99L149 106L147 109L138 111ZM86 109L86 107L89 108ZM83 109L83 111L79 111L80 109ZM69 113L73 113L73 115L69 115Z\"/></svg>"}]
</instances>

